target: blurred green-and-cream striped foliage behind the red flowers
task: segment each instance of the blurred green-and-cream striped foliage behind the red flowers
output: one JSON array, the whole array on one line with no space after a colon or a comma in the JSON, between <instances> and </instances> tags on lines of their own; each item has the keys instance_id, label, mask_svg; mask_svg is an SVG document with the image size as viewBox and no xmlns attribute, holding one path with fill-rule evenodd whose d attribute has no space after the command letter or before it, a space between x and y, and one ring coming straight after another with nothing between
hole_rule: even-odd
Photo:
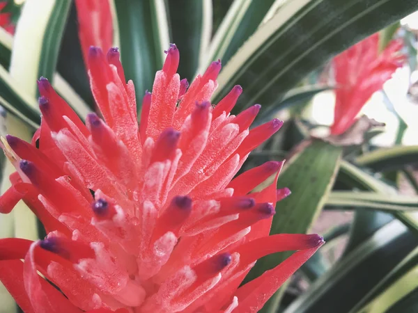
<instances>
[{"instance_id":1,"label":"blurred green-and-cream striped foliage behind the red flowers","mask_svg":"<svg viewBox=\"0 0 418 313\"><path fill-rule=\"evenodd\" d=\"M29 141L40 122L38 77L49 78L82 117L95 104L75 3L5 2L1 132ZM291 188L293 195L278 202L271 232L318 232L327 243L263 312L418 312L418 15L410 15L418 10L416 0L109 0L109 5L114 45L138 100L152 88L164 49L175 42L182 78L191 80L211 61L222 60L214 104L240 84L244 93L235 112L260 103L257 122L285 120L244 168L288 159L279 187ZM339 87L332 79L332 58L378 31L381 51L397 38L407 56L362 111L387 127L366 131L362 141L349 145L316 138L327 137L332 124ZM3 192L12 167L1 161ZM36 223L18 204L0 216L0 236L36 239ZM259 260L250 278L285 257ZM0 303L0 312L13 312L6 291L0 291Z\"/></svg>"}]
</instances>

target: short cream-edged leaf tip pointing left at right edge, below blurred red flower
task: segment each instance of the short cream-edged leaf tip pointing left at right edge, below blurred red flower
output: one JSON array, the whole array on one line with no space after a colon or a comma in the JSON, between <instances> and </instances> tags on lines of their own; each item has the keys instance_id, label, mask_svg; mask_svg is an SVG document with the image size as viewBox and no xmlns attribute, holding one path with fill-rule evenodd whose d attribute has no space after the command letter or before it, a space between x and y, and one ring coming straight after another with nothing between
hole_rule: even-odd
<instances>
[{"instance_id":1,"label":"short cream-edged leaf tip pointing left at right edge, below blurred red flower","mask_svg":"<svg viewBox=\"0 0 418 313\"><path fill-rule=\"evenodd\" d=\"M417 163L417 160L418 145L395 145L362 154L355 163L377 172L386 172L405 168L408 164Z\"/></svg>"}]
</instances>

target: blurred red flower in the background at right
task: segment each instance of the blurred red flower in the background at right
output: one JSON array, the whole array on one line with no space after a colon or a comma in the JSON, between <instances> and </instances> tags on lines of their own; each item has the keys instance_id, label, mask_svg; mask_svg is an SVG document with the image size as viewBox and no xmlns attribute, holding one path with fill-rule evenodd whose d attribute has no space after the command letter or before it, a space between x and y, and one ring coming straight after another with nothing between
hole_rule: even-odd
<instances>
[{"instance_id":1,"label":"blurred red flower in the background at right","mask_svg":"<svg viewBox=\"0 0 418 313\"><path fill-rule=\"evenodd\" d=\"M353 125L371 95L402 66L401 47L401 40L392 40L379 53L379 34L375 33L334 58L337 89L332 134L342 134Z\"/></svg>"}]
</instances>

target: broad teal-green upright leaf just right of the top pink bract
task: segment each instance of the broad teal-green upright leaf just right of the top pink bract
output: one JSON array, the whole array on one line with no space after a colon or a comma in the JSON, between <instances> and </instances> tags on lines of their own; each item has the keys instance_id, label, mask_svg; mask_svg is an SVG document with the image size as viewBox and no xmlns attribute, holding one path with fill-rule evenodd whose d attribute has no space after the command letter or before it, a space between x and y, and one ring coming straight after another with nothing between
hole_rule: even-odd
<instances>
[{"instance_id":1,"label":"broad teal-green upright leaf just right of the top pink bract","mask_svg":"<svg viewBox=\"0 0 418 313\"><path fill-rule=\"evenodd\" d=\"M135 83L137 97L153 86L169 47L167 13L163 0L115 1L126 79ZM140 102L138 103L141 106Z\"/></svg>"}]
</instances>

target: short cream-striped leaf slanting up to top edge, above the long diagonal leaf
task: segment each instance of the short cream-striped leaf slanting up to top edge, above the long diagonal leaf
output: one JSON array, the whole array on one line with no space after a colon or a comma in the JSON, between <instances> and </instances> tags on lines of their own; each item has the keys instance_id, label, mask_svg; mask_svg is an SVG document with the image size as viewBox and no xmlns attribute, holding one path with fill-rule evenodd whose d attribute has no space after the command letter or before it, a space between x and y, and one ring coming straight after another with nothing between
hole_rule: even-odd
<instances>
[{"instance_id":1,"label":"short cream-striped leaf slanting up to top edge, above the long diagonal leaf","mask_svg":"<svg viewBox=\"0 0 418 313\"><path fill-rule=\"evenodd\" d=\"M206 70L211 61L219 58L224 64L228 63L231 56L262 24L274 2L235 0L217 29L199 72Z\"/></svg>"}]
</instances>

